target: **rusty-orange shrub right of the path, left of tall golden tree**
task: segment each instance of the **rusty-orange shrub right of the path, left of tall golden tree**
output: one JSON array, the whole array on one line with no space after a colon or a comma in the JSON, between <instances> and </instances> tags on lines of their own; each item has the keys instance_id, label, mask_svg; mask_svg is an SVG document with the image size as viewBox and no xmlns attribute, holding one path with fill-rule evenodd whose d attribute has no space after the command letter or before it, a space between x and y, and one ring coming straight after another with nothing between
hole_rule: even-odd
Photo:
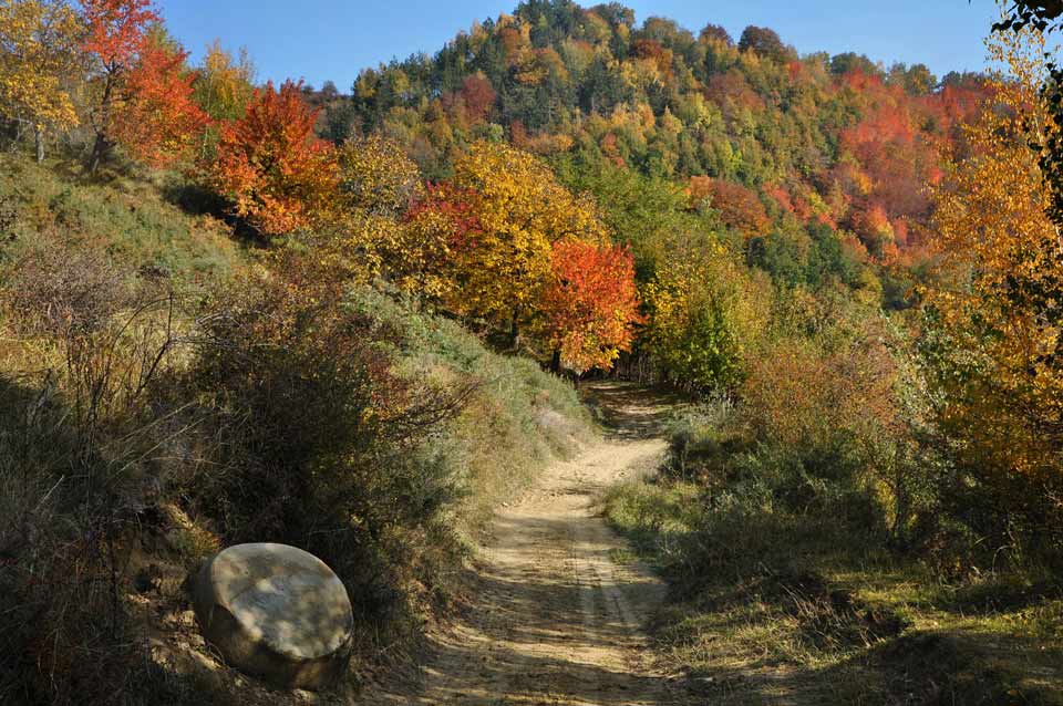
<instances>
[{"instance_id":1,"label":"rusty-orange shrub right of the path, left of tall golden tree","mask_svg":"<svg viewBox=\"0 0 1063 706\"><path fill-rule=\"evenodd\" d=\"M788 511L884 527L899 495L879 492L887 459L908 428L896 397L898 363L873 321L825 346L787 338L767 346L742 387L743 414L761 447L747 458Z\"/></svg>"}]
</instances>

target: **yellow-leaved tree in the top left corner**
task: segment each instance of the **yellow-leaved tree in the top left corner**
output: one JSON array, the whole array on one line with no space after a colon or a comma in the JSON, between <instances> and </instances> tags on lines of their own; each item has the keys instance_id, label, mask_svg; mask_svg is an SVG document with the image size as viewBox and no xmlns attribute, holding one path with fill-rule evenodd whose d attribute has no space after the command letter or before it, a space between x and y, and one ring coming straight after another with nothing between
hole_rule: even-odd
<instances>
[{"instance_id":1,"label":"yellow-leaved tree in the top left corner","mask_svg":"<svg viewBox=\"0 0 1063 706\"><path fill-rule=\"evenodd\" d=\"M0 114L33 131L38 162L49 133L79 123L71 83L82 29L63 0L0 4Z\"/></svg>"}]
</instances>

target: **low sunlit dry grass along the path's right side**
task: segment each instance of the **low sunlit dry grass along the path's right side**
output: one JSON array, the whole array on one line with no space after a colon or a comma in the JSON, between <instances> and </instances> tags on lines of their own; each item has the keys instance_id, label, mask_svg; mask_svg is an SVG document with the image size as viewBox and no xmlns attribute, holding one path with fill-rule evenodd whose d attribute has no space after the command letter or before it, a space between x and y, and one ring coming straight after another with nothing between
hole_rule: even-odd
<instances>
[{"instance_id":1,"label":"low sunlit dry grass along the path's right side","mask_svg":"<svg viewBox=\"0 0 1063 706\"><path fill-rule=\"evenodd\" d=\"M808 517L714 512L668 480L615 489L607 517L672 583L662 666L714 704L1063 704L1063 588L943 584Z\"/></svg>"}]
</instances>

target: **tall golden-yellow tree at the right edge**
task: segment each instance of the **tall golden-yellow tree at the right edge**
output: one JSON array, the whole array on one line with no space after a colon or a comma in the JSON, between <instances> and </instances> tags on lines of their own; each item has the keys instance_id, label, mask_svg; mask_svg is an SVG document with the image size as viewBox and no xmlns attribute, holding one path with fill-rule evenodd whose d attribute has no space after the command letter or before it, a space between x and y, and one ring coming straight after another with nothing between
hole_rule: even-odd
<instances>
[{"instance_id":1,"label":"tall golden-yellow tree at the right edge","mask_svg":"<svg viewBox=\"0 0 1063 706\"><path fill-rule=\"evenodd\" d=\"M940 264L923 349L939 423L971 482L1043 528L1050 506L1063 519L1063 240L1045 214L1038 146L1059 126L1039 91L1041 33L994 34L989 46L1008 72L935 191Z\"/></svg>"}]
</instances>

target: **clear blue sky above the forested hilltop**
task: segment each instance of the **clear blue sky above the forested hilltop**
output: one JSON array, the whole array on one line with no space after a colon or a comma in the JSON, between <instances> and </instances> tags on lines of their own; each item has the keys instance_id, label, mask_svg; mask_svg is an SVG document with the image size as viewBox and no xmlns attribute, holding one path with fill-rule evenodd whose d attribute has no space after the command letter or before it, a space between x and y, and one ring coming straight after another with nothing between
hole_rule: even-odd
<instances>
[{"instance_id":1,"label":"clear blue sky above the forested hilltop","mask_svg":"<svg viewBox=\"0 0 1063 706\"><path fill-rule=\"evenodd\" d=\"M518 0L156 0L193 52L214 39L246 46L258 77L331 79L350 89L358 72L416 51L434 53L473 20L512 12ZM584 2L596 4L599 0ZM629 0L639 22L660 15L695 33L709 22L734 37L747 24L774 29L802 53L865 53L887 64L926 63L938 75L984 64L992 0Z\"/></svg>"}]
</instances>

